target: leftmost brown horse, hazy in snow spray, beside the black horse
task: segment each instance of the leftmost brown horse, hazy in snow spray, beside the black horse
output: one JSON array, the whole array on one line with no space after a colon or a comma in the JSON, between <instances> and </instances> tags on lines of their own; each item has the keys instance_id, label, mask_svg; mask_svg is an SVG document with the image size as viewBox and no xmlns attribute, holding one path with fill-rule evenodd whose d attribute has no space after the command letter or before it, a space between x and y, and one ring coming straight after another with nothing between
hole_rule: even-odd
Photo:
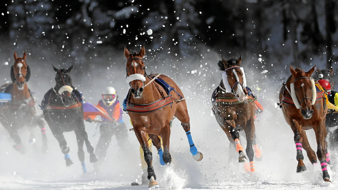
<instances>
[{"instance_id":1,"label":"leftmost brown horse, hazy in snow spray, beside the black horse","mask_svg":"<svg viewBox=\"0 0 338 190\"><path fill-rule=\"evenodd\" d=\"M35 100L30 94L27 82L30 79L30 68L26 63L26 52L23 57L17 57L14 52L14 65L10 69L10 78L13 83L8 83L0 87L0 92L10 93L12 101L0 103L0 122L9 132L10 137L15 142L13 147L25 153L25 147L21 142L18 130L23 126L29 126L31 131L30 139L35 140L33 127L39 125L42 133L43 147L42 151L47 152L47 137L44 121L35 114ZM32 141L34 142L34 141Z\"/></svg>"}]
</instances>

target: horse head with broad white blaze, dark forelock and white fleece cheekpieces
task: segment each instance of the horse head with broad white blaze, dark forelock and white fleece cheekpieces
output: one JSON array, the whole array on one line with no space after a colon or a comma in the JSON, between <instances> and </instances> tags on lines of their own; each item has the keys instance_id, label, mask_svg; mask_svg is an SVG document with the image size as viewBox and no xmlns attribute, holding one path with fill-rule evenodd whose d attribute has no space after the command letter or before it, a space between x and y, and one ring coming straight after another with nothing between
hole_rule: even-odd
<instances>
[{"instance_id":1,"label":"horse head with broad white blaze, dark forelock and white fleece cheekpieces","mask_svg":"<svg viewBox=\"0 0 338 190\"><path fill-rule=\"evenodd\" d=\"M218 62L218 67L223 73L223 84L228 93L232 93L236 96L238 101L243 101L245 93L243 88L246 87L245 73L242 67L242 55L236 60L231 58L230 60L224 60Z\"/></svg>"}]
</instances>

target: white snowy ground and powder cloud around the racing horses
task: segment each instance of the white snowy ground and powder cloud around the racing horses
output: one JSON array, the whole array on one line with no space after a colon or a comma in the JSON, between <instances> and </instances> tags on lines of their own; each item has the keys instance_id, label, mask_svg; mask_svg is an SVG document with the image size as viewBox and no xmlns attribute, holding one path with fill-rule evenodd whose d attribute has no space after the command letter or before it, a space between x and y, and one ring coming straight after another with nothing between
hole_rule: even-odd
<instances>
[{"instance_id":1,"label":"white snowy ground and powder cloud around the racing horses","mask_svg":"<svg viewBox=\"0 0 338 190\"><path fill-rule=\"evenodd\" d=\"M117 63L125 63L125 59L116 60ZM120 59L118 58L118 59ZM247 56L249 59L249 56ZM246 63L251 60L243 61ZM244 59L245 60L245 59ZM255 60L257 60L255 58ZM333 183L324 183L321 177L320 166L313 167L304 151L304 163L307 172L296 174L296 149L293 142L293 133L283 118L282 112L275 107L277 91L281 87L279 80L266 78L261 71L247 72L248 86L255 89L257 84L262 88L259 101L264 107L264 112L258 115L256 134L259 146L262 150L262 160L255 161L256 172L248 174L244 172L243 165L236 159L235 149L229 148L229 141L211 114L211 93L221 80L221 72L217 71L217 61L205 61L183 65L184 63L166 64L162 67L151 67L155 73L164 73L173 77L187 98L188 111L191 119L191 134L198 150L203 153L201 162L195 161L189 151L189 144L180 122L176 119L171 129L170 152L173 158L171 166L161 166L159 156L153 153L153 165L157 181L161 189L336 189L338 176L337 168L329 168L329 174ZM42 97L47 90L55 84L54 72L50 65L41 67L39 64L30 65L32 77L29 88L37 96L37 112ZM147 63L148 64L148 63ZM55 64L57 65L57 64ZM251 64L250 64L251 65ZM95 66L95 65L94 65ZM175 66L175 67L173 67ZM189 67L186 67L189 66ZM121 69L122 68L122 69ZM9 66L7 70L9 69ZM73 69L80 70L78 68ZM196 70L196 71L195 71ZM248 69L249 70L249 69ZM189 71L189 73L187 72ZM194 74L191 73L194 71ZM125 82L125 67L90 69L89 73L78 77L72 75L73 85L96 103L101 96L101 89L105 86L114 86L118 90L120 102L124 99L128 90ZM7 72L0 74L9 78ZM279 73L281 75L281 73ZM288 75L285 73L284 75ZM271 75L270 75L271 76ZM81 77L81 78L80 78ZM2 77L3 78L3 77ZM264 92L265 91L265 92ZM124 115L127 129L131 128L129 117ZM126 130L127 130L126 129ZM13 141L7 131L0 127L0 189L147 189L146 186L132 187L131 182L141 180L142 169L139 154L139 143L134 132L128 132L128 141L131 147L120 148L115 137L107 152L107 160L103 164L100 174L93 172L93 164L89 162L89 154L84 148L88 174L83 175L81 165L77 157L77 143L73 132L65 133L69 153L74 165L66 167L64 156L58 146L57 140L51 135L46 125L49 152L43 155L41 152L41 136L39 128L36 129L37 142L28 144L27 129L20 130L22 142L27 148L26 155L21 155L12 147ZM96 147L99 132L95 134L95 124L86 122L86 130L89 140ZM316 141L313 130L307 132L310 144L316 150ZM246 142L244 133L240 133L241 144L244 149ZM155 150L155 148L152 148ZM337 162L332 160L333 163Z\"/></svg>"}]
</instances>

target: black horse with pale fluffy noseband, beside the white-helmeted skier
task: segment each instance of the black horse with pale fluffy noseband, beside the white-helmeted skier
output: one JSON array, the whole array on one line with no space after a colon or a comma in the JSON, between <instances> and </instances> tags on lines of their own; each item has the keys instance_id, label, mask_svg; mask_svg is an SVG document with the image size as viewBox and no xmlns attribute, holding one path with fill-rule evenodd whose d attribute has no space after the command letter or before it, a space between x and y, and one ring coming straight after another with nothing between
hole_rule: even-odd
<instances>
[{"instance_id":1,"label":"black horse with pale fluffy noseband, beside the white-helmeted skier","mask_svg":"<svg viewBox=\"0 0 338 190\"><path fill-rule=\"evenodd\" d=\"M43 115L54 137L59 142L61 151L65 155L67 166L72 165L73 162L68 155L70 149L63 133L75 132L78 145L77 154L81 161L83 173L86 173L83 142L86 142L87 151L90 153L90 162L93 163L98 160L94 154L94 148L88 140L88 134L84 126L82 94L72 85L70 72L73 66L68 69L57 69L53 66L53 69L56 72L56 85L45 94L42 100Z\"/></svg>"}]
</instances>

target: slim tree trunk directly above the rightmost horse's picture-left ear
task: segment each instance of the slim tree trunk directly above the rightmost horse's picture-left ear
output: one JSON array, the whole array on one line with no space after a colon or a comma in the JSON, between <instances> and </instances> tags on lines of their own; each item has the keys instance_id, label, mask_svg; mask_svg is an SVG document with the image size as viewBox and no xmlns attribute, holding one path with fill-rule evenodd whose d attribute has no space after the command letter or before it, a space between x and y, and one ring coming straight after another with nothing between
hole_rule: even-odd
<instances>
[{"instance_id":1,"label":"slim tree trunk directly above the rightmost horse's picture-left ear","mask_svg":"<svg viewBox=\"0 0 338 190\"><path fill-rule=\"evenodd\" d=\"M300 68L299 50L298 50L298 38L297 38L297 16L293 11L293 5L290 5L290 33L291 33L291 44L293 49L293 61L294 66Z\"/></svg>"}]
</instances>

